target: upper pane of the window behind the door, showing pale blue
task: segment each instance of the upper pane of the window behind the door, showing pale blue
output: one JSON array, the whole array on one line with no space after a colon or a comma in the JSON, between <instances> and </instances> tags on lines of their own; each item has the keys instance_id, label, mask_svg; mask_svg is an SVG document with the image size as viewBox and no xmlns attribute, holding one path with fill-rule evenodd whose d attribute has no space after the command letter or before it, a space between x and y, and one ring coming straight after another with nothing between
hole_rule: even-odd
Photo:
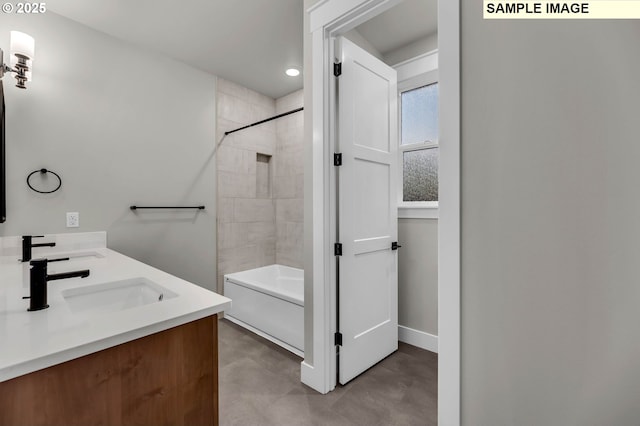
<instances>
[{"instance_id":1,"label":"upper pane of the window behind the door, showing pale blue","mask_svg":"<svg viewBox=\"0 0 640 426\"><path fill-rule=\"evenodd\" d=\"M400 144L438 141L438 83L403 92Z\"/></svg>"}]
</instances>

